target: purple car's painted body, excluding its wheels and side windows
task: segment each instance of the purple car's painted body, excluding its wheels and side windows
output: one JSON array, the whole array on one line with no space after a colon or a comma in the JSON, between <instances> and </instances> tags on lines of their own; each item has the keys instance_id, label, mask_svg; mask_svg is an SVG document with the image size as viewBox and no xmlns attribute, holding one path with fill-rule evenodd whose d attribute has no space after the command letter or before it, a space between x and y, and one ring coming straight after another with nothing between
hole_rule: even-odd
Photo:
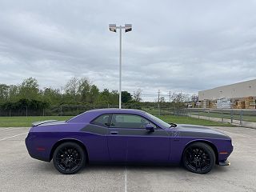
<instances>
[{"instance_id":1,"label":"purple car's painted body, excluding its wheels and side windows","mask_svg":"<svg viewBox=\"0 0 256 192\"><path fill-rule=\"evenodd\" d=\"M102 114L136 114L154 123L157 128L151 132L144 128L110 128L92 123ZM191 142L206 142L213 146L217 162L226 161L233 150L230 137L218 130L192 125L166 128L142 110L118 109L90 110L66 122L37 122L26 137L26 147L32 158L50 162L54 147L66 140L85 146L92 163L177 164L181 162L183 150Z\"/></svg>"}]
</instances>

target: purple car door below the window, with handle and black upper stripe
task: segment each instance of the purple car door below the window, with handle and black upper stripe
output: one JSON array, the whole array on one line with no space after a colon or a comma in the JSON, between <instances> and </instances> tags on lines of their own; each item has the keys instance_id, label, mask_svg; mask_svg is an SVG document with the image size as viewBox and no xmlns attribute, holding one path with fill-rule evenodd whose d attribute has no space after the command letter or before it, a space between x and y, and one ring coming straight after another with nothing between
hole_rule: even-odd
<instances>
[{"instance_id":1,"label":"purple car door below the window, with handle and black upper stripe","mask_svg":"<svg viewBox=\"0 0 256 192\"><path fill-rule=\"evenodd\" d=\"M112 162L168 162L170 135L161 129L110 128L108 146Z\"/></svg>"}]
</instances>

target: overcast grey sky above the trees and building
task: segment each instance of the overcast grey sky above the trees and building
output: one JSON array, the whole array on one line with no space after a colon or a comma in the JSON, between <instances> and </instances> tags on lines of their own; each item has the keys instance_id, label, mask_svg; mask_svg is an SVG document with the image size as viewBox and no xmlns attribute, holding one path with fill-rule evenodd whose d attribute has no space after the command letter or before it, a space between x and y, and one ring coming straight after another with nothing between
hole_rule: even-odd
<instances>
[{"instance_id":1,"label":"overcast grey sky above the trees and building","mask_svg":"<svg viewBox=\"0 0 256 192\"><path fill-rule=\"evenodd\" d=\"M89 78L143 101L169 91L197 94L256 78L256 1L0 0L0 83L37 78L40 88Z\"/></svg>"}]
</instances>

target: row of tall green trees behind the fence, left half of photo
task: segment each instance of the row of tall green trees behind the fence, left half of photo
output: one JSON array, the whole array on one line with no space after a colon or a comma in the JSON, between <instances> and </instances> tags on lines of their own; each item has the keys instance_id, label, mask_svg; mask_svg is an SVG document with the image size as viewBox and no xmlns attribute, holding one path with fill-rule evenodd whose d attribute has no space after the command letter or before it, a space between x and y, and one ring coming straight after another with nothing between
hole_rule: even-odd
<instances>
[{"instance_id":1,"label":"row of tall green trees behind the fence, left half of photo","mask_svg":"<svg viewBox=\"0 0 256 192\"><path fill-rule=\"evenodd\" d=\"M122 91L122 103L142 101L142 90ZM44 109L61 105L111 105L118 106L118 90L100 91L88 78L71 78L62 90L51 87L39 88L36 78L26 78L21 84L0 84L0 107L2 109Z\"/></svg>"}]
</instances>

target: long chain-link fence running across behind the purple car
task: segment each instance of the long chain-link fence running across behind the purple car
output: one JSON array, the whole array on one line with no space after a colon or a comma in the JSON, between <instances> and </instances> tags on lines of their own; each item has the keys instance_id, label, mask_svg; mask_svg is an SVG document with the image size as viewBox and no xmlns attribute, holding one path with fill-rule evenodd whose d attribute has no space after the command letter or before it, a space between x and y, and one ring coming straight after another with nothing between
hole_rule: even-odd
<instances>
[{"instance_id":1,"label":"long chain-link fence running across behind the purple car","mask_svg":"<svg viewBox=\"0 0 256 192\"><path fill-rule=\"evenodd\" d=\"M102 109L102 108L118 108L111 105L83 105L83 106L52 106L47 109L31 110L28 107L15 110L0 109L0 116L75 116L82 114L86 110ZM256 110L236 110L236 109L199 109L199 108L184 108L175 106L151 106L142 105L123 105L123 109L138 109L145 110L153 115L175 115L187 116L191 118L202 118L210 121L230 122L243 125L244 122L256 122Z\"/></svg>"}]
</instances>

